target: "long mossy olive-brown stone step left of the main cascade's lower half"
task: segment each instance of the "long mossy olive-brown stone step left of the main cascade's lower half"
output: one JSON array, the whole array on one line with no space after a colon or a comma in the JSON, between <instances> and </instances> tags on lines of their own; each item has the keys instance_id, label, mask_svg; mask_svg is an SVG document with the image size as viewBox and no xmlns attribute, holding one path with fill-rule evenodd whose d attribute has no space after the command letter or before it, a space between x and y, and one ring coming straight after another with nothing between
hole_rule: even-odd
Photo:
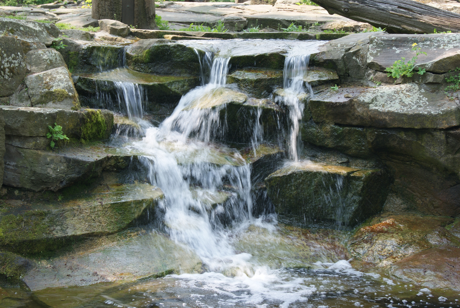
<instances>
[{"instance_id":1,"label":"long mossy olive-brown stone step left of the main cascade's lower half","mask_svg":"<svg viewBox=\"0 0 460 308\"><path fill-rule=\"evenodd\" d=\"M40 253L83 237L119 232L153 219L163 198L159 188L140 183L100 185L80 194L69 198L64 192L56 201L6 200L0 214L1 245L22 254Z\"/></svg>"}]
</instances>

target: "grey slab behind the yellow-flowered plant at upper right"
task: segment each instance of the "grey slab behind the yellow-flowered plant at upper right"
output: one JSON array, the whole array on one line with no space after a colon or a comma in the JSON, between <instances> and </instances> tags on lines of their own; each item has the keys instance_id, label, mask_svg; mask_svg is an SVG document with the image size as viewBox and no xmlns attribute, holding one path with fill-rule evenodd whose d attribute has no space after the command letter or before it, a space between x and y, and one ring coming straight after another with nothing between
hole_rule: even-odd
<instances>
[{"instance_id":1,"label":"grey slab behind the yellow-flowered plant at upper right","mask_svg":"<svg viewBox=\"0 0 460 308\"><path fill-rule=\"evenodd\" d=\"M441 74L460 66L460 34L385 34L371 36L367 66L376 71L384 72L401 57L406 62L415 56L412 44L420 47L420 54L415 64L417 68L425 68L427 72Z\"/></svg>"}]
</instances>

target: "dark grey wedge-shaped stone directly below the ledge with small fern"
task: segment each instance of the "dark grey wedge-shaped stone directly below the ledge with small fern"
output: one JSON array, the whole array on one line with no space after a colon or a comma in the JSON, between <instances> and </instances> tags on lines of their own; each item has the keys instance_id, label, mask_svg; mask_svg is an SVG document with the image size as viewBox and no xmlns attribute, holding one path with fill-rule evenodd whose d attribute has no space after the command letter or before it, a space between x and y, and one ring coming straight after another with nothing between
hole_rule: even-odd
<instances>
[{"instance_id":1,"label":"dark grey wedge-shaped stone directly below the ledge with small fern","mask_svg":"<svg viewBox=\"0 0 460 308\"><path fill-rule=\"evenodd\" d=\"M104 170L120 171L128 166L131 157L98 148L64 148L57 153L6 144L3 183L34 191L57 191L98 177Z\"/></svg>"}]
</instances>

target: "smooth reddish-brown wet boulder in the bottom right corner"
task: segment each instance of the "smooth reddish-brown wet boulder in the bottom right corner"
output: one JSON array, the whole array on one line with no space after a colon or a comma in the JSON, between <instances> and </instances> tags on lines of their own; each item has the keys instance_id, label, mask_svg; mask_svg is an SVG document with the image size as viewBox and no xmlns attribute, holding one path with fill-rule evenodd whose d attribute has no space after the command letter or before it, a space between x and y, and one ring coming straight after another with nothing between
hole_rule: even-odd
<instances>
[{"instance_id":1,"label":"smooth reddish-brown wet boulder in the bottom right corner","mask_svg":"<svg viewBox=\"0 0 460 308\"><path fill-rule=\"evenodd\" d=\"M406 257L390 268L390 274L428 288L460 291L460 248L441 246Z\"/></svg>"}]
</instances>

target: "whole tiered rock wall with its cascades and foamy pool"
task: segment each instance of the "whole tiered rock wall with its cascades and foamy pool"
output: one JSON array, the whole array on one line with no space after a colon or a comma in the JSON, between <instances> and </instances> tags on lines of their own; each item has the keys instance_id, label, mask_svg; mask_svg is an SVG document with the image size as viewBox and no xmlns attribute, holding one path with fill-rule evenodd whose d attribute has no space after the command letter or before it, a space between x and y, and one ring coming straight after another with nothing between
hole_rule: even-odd
<instances>
[{"instance_id":1,"label":"whole tiered rock wall with its cascades and foamy pool","mask_svg":"<svg viewBox=\"0 0 460 308\"><path fill-rule=\"evenodd\" d=\"M459 306L459 34L7 22L2 307Z\"/></svg>"}]
</instances>

